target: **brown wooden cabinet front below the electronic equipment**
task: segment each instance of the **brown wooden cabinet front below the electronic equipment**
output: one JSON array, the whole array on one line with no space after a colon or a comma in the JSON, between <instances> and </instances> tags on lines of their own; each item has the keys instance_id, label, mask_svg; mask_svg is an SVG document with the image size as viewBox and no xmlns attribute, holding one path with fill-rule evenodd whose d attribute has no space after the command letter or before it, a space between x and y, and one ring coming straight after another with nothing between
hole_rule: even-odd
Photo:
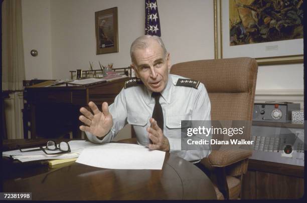
<instances>
[{"instance_id":1,"label":"brown wooden cabinet front below the electronic equipment","mask_svg":"<svg viewBox=\"0 0 307 203\"><path fill-rule=\"evenodd\" d=\"M304 167L249 159L244 199L299 199L304 195Z\"/></svg>"}]
</instances>

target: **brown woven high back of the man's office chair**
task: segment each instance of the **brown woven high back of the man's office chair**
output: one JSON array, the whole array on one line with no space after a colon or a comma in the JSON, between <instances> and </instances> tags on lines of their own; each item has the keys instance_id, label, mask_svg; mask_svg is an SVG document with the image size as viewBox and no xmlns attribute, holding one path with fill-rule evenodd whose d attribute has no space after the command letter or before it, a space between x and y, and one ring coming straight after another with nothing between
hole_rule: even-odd
<instances>
[{"instance_id":1,"label":"brown woven high back of the man's office chair","mask_svg":"<svg viewBox=\"0 0 307 203\"><path fill-rule=\"evenodd\" d=\"M178 63L171 73L202 82L211 102L211 120L252 120L258 66L252 58Z\"/></svg>"}]
</instances>

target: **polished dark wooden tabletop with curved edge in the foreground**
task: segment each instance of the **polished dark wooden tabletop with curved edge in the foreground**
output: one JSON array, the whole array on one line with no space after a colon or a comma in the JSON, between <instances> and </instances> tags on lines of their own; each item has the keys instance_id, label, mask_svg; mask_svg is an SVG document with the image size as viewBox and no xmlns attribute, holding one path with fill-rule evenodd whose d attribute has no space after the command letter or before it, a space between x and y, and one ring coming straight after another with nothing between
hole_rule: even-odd
<instances>
[{"instance_id":1,"label":"polished dark wooden tabletop with curved edge in the foreground","mask_svg":"<svg viewBox=\"0 0 307 203\"><path fill-rule=\"evenodd\" d=\"M28 177L7 178L3 191L32 192L33 200L216 199L206 174L170 153L166 153L162 170L106 169L73 163Z\"/></svg>"}]
</instances>

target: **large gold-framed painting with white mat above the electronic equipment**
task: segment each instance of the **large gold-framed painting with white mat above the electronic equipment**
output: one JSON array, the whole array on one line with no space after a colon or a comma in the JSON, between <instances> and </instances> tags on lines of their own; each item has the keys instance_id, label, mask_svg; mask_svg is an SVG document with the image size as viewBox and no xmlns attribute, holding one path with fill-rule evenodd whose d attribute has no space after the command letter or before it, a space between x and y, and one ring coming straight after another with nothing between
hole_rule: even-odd
<instances>
[{"instance_id":1,"label":"large gold-framed painting with white mat above the electronic equipment","mask_svg":"<svg viewBox=\"0 0 307 203\"><path fill-rule=\"evenodd\" d=\"M215 58L303 63L303 1L214 0Z\"/></svg>"}]
</instances>

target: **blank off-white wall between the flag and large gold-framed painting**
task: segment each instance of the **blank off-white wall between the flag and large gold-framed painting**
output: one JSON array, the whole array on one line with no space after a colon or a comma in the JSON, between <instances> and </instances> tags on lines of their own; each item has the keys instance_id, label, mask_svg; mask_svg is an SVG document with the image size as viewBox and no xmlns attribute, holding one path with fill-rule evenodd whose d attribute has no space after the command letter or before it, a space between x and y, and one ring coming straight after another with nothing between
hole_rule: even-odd
<instances>
[{"instance_id":1,"label":"blank off-white wall between the flag and large gold-framed painting","mask_svg":"<svg viewBox=\"0 0 307 203\"><path fill-rule=\"evenodd\" d=\"M158 7L172 64L214 59L213 1L158 0Z\"/></svg>"}]
</instances>

